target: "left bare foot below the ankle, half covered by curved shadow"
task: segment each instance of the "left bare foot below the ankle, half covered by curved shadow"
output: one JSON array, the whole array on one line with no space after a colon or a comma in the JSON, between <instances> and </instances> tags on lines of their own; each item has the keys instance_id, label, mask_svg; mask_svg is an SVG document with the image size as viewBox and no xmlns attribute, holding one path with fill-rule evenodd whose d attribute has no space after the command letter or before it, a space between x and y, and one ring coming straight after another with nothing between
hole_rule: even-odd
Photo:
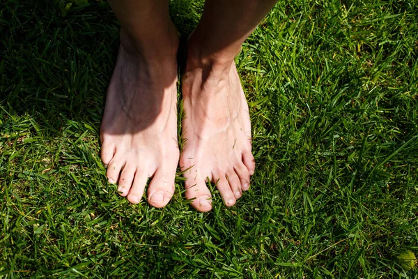
<instances>
[{"instance_id":1,"label":"left bare foot below the ankle, half covered by curved shadow","mask_svg":"<svg viewBox=\"0 0 418 279\"><path fill-rule=\"evenodd\" d=\"M100 127L101 157L110 183L133 204L149 177L148 202L165 206L178 165L176 55L150 59L121 36Z\"/></svg>"}]
</instances>

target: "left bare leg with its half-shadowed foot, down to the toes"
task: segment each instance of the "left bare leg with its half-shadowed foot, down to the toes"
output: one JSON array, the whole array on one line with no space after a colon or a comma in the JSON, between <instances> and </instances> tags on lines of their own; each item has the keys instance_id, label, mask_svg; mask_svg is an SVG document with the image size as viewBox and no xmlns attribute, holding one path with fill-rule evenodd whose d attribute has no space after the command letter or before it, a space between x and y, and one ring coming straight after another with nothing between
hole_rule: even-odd
<instances>
[{"instance_id":1,"label":"left bare leg with its half-shadowed foot, down to the toes","mask_svg":"<svg viewBox=\"0 0 418 279\"><path fill-rule=\"evenodd\" d=\"M165 206L178 164L176 52L178 35L168 2L111 0L121 21L121 46L109 89L100 138L109 182L137 204L147 179L148 202Z\"/></svg>"}]
</instances>

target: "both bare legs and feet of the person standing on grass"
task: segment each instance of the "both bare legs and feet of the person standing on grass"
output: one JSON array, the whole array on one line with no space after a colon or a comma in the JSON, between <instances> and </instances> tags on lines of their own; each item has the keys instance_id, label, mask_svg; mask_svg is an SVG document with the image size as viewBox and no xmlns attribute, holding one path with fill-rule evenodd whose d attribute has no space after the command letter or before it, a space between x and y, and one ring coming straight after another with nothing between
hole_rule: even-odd
<instances>
[{"instance_id":1,"label":"both bare legs and feet of the person standing on grass","mask_svg":"<svg viewBox=\"0 0 418 279\"><path fill-rule=\"evenodd\" d=\"M212 209L206 182L226 206L249 189L255 161L251 124L234 57L275 0L207 0L189 38L183 80L183 150L178 149L178 34L165 0L111 0L121 22L121 46L100 128L101 157L110 183L133 204L148 178L148 203L166 206L179 164L185 197Z\"/></svg>"}]
</instances>

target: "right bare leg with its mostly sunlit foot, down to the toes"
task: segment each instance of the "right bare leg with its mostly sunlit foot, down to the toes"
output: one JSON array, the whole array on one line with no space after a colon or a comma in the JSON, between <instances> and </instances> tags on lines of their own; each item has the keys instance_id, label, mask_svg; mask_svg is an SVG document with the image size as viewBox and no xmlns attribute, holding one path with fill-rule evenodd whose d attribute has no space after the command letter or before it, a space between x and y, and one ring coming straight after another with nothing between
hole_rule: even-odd
<instances>
[{"instance_id":1,"label":"right bare leg with its mostly sunlit foot, down to the toes","mask_svg":"<svg viewBox=\"0 0 418 279\"><path fill-rule=\"evenodd\" d=\"M206 178L217 183L226 206L249 188L255 161L247 100L233 62L240 47L275 0L207 0L189 40L183 76L180 167L186 197L199 211L212 209Z\"/></svg>"}]
</instances>

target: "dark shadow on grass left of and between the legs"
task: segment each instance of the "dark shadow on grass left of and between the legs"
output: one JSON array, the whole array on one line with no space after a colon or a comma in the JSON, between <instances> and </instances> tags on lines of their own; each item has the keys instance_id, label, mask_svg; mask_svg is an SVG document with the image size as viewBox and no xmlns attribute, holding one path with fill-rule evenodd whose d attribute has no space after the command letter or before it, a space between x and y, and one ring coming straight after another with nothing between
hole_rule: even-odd
<instances>
[{"instance_id":1,"label":"dark shadow on grass left of and between the legs","mask_svg":"<svg viewBox=\"0 0 418 279\"><path fill-rule=\"evenodd\" d=\"M194 29L202 7L189 0L170 2L181 38ZM69 121L98 132L119 45L109 5L73 3L63 15L57 1L10 1L1 13L2 121L26 115L52 136Z\"/></svg>"}]
</instances>

